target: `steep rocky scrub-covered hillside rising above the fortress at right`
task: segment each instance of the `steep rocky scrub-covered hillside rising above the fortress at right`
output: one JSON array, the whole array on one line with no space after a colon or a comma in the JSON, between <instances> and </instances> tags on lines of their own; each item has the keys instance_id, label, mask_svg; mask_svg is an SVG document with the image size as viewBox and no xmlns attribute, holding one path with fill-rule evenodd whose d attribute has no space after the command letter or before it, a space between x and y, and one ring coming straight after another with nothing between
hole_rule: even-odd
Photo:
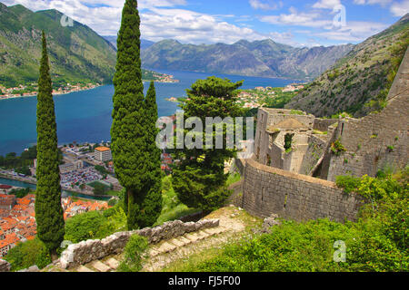
<instances>
[{"instance_id":1,"label":"steep rocky scrub-covered hillside rising above the fortress at right","mask_svg":"<svg viewBox=\"0 0 409 290\"><path fill-rule=\"evenodd\" d=\"M409 43L409 14L384 32L359 43L332 69L294 97L286 108L330 116L346 111L362 117L380 111Z\"/></svg>"}]
</instances>

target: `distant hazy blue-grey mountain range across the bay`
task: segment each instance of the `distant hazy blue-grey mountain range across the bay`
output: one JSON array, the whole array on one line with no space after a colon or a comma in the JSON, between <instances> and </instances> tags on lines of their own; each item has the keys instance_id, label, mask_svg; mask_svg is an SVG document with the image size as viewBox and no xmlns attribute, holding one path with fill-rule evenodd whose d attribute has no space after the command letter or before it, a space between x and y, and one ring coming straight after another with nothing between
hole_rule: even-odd
<instances>
[{"instance_id":1,"label":"distant hazy blue-grey mountain range across the bay","mask_svg":"<svg viewBox=\"0 0 409 290\"><path fill-rule=\"evenodd\" d=\"M294 48L271 39L211 45L164 40L145 49L141 57L144 67L152 69L308 80L324 73L353 48L352 44Z\"/></svg>"}]
</instances>

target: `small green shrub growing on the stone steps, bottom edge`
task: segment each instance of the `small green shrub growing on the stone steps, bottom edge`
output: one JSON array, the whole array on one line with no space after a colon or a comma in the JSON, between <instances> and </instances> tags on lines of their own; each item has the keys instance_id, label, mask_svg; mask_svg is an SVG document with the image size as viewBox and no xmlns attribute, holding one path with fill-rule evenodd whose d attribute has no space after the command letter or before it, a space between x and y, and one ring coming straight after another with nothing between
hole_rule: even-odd
<instances>
[{"instance_id":1,"label":"small green shrub growing on the stone steps, bottom edge","mask_svg":"<svg viewBox=\"0 0 409 290\"><path fill-rule=\"evenodd\" d=\"M146 257L148 241L146 237L134 235L129 237L125 246L124 260L119 265L117 272L139 272L142 262Z\"/></svg>"}]
</instances>

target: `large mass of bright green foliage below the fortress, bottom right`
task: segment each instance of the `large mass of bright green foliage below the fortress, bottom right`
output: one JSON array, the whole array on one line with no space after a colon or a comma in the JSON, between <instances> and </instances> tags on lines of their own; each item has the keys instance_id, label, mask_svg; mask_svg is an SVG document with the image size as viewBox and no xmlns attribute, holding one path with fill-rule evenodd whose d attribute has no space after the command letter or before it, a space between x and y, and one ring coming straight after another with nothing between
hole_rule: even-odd
<instances>
[{"instance_id":1,"label":"large mass of bright green foliage below the fortress, bottom right","mask_svg":"<svg viewBox=\"0 0 409 290\"><path fill-rule=\"evenodd\" d=\"M182 271L407 272L408 173L405 169L386 179L337 179L372 200L355 223L283 221L270 234L228 243L217 256L186 263ZM345 243L345 262L334 262L335 241Z\"/></svg>"}]
</instances>

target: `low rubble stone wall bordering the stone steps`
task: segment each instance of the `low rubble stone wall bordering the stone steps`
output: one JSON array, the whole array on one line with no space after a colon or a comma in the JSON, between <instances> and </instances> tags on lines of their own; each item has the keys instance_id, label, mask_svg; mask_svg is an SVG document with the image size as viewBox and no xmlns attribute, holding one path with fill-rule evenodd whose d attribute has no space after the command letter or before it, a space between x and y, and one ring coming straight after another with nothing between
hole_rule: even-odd
<instances>
[{"instance_id":1,"label":"low rubble stone wall bordering the stone steps","mask_svg":"<svg viewBox=\"0 0 409 290\"><path fill-rule=\"evenodd\" d=\"M120 254L133 235L147 237L149 243L158 243L162 240L181 237L187 233L205 228L218 227L218 219L204 219L198 222L184 223L180 220L166 222L159 227L146 227L128 232L115 233L104 239L87 240L78 244L70 245L63 252L60 264L63 268L85 265L86 263L101 259L105 256Z\"/></svg>"}]
</instances>

